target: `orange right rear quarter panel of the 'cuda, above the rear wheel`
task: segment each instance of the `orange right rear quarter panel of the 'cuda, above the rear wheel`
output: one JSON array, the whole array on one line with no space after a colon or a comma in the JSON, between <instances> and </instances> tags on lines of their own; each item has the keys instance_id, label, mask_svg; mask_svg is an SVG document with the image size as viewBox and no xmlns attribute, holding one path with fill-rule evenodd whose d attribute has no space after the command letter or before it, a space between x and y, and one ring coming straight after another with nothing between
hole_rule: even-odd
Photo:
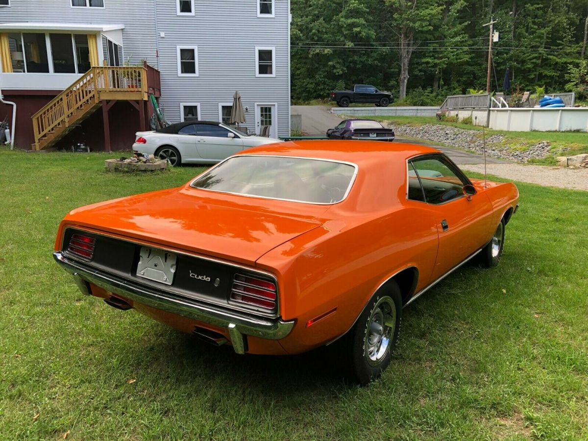
<instances>
[{"instance_id":1,"label":"orange right rear quarter panel of the 'cuda, above the rear wheel","mask_svg":"<svg viewBox=\"0 0 588 441\"><path fill-rule=\"evenodd\" d=\"M404 175L403 167L387 168L375 180L377 188L362 186L366 180L358 175L355 189L362 198L333 206L328 214L334 219L258 259L260 268L278 276L282 318L297 320L292 333L280 340L287 352L305 352L345 333L379 286L400 270L417 268L417 289L429 281L437 229L419 209L403 205L405 189L399 182ZM306 326L334 308L335 313Z\"/></svg>"}]
</instances>

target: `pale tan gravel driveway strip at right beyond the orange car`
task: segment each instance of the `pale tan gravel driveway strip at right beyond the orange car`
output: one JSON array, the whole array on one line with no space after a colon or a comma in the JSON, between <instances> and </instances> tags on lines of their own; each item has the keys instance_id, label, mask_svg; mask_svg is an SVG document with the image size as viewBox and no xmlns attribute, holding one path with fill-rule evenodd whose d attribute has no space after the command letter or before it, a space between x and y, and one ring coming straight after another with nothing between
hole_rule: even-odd
<instances>
[{"instance_id":1,"label":"pale tan gravel driveway strip at right beyond the orange car","mask_svg":"<svg viewBox=\"0 0 588 441\"><path fill-rule=\"evenodd\" d=\"M483 164L462 165L460 167L466 171L484 172ZM588 169L506 163L488 164L487 172L489 175L500 176L500 178L512 179L513 181L588 191Z\"/></svg>"}]
</instances>

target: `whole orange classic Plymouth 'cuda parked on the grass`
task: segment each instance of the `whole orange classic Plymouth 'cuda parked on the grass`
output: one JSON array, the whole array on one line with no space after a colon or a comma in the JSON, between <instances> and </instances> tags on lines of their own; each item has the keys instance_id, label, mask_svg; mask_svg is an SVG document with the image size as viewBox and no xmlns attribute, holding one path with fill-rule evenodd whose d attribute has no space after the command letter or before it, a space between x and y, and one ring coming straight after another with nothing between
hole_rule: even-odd
<instances>
[{"instance_id":1,"label":"whole orange classic Plymouth 'cuda parked on the grass","mask_svg":"<svg viewBox=\"0 0 588 441\"><path fill-rule=\"evenodd\" d=\"M518 199L436 149L285 142L179 188L75 209L54 258L82 293L237 353L335 345L367 384L405 306L469 260L497 264Z\"/></svg>"}]
</instances>

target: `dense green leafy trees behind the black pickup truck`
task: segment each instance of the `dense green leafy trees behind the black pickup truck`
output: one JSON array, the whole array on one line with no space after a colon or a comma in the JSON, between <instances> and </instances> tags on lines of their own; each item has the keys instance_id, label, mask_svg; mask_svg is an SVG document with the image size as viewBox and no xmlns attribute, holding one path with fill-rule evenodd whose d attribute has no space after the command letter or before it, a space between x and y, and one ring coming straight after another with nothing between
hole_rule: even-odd
<instances>
[{"instance_id":1,"label":"dense green leafy trees behind the black pickup truck","mask_svg":"<svg viewBox=\"0 0 588 441\"><path fill-rule=\"evenodd\" d=\"M588 99L588 0L292 0L292 99L373 84L397 104L439 105L486 89L575 91Z\"/></svg>"}]
</instances>

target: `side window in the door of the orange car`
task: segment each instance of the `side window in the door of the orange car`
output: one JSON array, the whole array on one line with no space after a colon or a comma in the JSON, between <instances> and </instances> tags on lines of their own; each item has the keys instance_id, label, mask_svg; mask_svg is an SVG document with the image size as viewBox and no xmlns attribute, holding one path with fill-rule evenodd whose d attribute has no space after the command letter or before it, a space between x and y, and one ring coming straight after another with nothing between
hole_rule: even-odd
<instances>
[{"instance_id":1,"label":"side window in the door of the orange car","mask_svg":"<svg viewBox=\"0 0 588 441\"><path fill-rule=\"evenodd\" d=\"M423 195L414 188L416 186L412 173L417 178L417 181L422 188ZM415 201L422 201L424 196L425 202L432 204L440 204L452 201L453 199L463 196L463 186L468 184L465 176L447 159L442 156L427 156L422 159L414 159L409 163L409 199ZM411 184L413 186L411 198ZM419 199L420 198L420 199Z\"/></svg>"}]
</instances>

